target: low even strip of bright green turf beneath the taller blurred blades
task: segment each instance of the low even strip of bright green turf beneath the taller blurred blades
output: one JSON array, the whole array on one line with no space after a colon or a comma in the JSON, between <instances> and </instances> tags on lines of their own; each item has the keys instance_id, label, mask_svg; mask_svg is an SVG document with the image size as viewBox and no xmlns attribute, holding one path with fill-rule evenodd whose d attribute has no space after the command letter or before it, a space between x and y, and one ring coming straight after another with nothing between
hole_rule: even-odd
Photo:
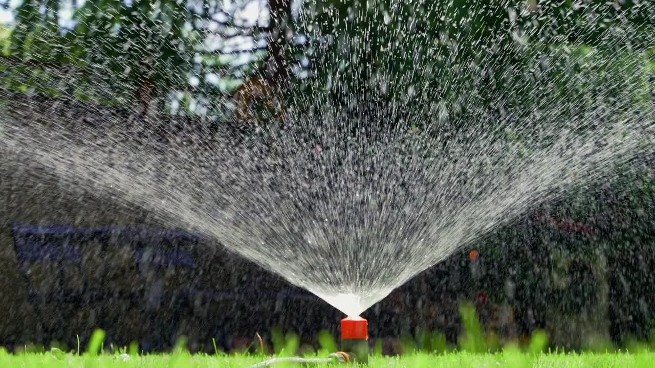
<instances>
[{"instance_id":1,"label":"low even strip of bright green turf beneath the taller blurred blades","mask_svg":"<svg viewBox=\"0 0 655 368\"><path fill-rule=\"evenodd\" d=\"M321 356L324 358L324 356ZM107 368L239 368L249 367L267 359L256 355L218 355L189 354L178 352L172 354L129 355L129 354L82 354L50 351L38 354L9 354L0 353L0 367L107 367ZM457 368L483 368L483 367L653 367L655 353L637 352L629 353L539 353L531 354L517 350L506 349L494 354L448 352L444 354L407 354L405 356L371 356L369 367L407 368L407 367L457 367ZM323 365L335 366L336 364ZM314 365L318 366L318 365ZM291 368L292 365L276 365L281 368ZM293 365L300 367L300 365Z\"/></svg>"}]
</instances>

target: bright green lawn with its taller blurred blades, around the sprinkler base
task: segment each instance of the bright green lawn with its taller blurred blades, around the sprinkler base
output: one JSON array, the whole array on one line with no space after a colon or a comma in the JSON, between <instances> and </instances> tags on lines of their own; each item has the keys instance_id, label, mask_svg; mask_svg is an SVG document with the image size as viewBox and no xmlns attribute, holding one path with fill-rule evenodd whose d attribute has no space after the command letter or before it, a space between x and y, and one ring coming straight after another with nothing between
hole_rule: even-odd
<instances>
[{"instance_id":1,"label":"bright green lawn with its taller blurred blades, around the sprinkler base","mask_svg":"<svg viewBox=\"0 0 655 368\"><path fill-rule=\"evenodd\" d=\"M403 342L400 356L384 356L381 354L380 341L375 344L368 367L411 368L411 367L457 367L457 368L550 368L550 367L655 367L655 330L650 342L634 342L629 348L618 349L610 343L599 344L593 352L565 352L563 349L548 348L548 335L544 331L534 331L527 344L519 347L515 344L499 346L485 336L473 306L462 304L460 316L464 333L458 341L458 346L448 345L443 335L422 334L416 339L408 338ZM105 333L101 329L94 331L88 343L80 342L68 352L57 348L48 351L29 352L27 346L24 352L16 354L0 348L0 368L4 367L109 367L109 368L248 368L271 358L286 358L301 356L302 358L327 358L329 352L338 350L337 341L327 331L319 333L318 342L321 346L318 352L299 347L299 339L293 333L284 334L280 329L272 331L272 354L265 354L267 346L260 340L253 341L248 346L248 352L233 352L230 354L191 354L186 346L186 339L178 340L172 352L162 354L140 354L138 344L122 348L111 347L113 352L105 350ZM258 336L258 335L257 335ZM215 345L215 341L214 341ZM42 347L43 348L43 347ZM217 351L214 346L214 350ZM254 351L254 352L253 352ZM305 353L301 353L304 351ZM346 363L299 364L278 363L273 367L345 367Z\"/></svg>"}]
</instances>

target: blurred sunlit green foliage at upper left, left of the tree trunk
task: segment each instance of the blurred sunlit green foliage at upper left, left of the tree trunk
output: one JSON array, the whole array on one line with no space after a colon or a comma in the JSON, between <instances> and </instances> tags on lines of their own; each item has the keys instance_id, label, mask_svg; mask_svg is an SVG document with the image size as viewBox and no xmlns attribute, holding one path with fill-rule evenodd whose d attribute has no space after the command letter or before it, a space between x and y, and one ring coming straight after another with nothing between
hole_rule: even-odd
<instances>
[{"instance_id":1,"label":"blurred sunlit green foliage at upper left, left of the tree trunk","mask_svg":"<svg viewBox=\"0 0 655 368\"><path fill-rule=\"evenodd\" d=\"M238 55L204 48L203 27L220 10L215 1L81 4L66 24L59 16L64 1L26 0L16 7L14 22L0 28L1 87L123 107L161 108L176 94L189 111L198 99L233 93L238 75L252 73L250 64L233 65ZM261 52L252 55L254 64L261 58ZM209 73L223 78L206 83Z\"/></svg>"}]
</instances>

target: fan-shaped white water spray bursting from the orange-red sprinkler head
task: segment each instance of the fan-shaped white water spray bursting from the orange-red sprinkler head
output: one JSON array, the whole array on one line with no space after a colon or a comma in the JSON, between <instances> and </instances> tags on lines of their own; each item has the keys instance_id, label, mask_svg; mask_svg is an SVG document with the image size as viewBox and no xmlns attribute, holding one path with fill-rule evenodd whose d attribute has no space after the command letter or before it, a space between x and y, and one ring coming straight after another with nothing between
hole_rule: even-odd
<instances>
[{"instance_id":1,"label":"fan-shaped white water spray bursting from the orange-red sprinkler head","mask_svg":"<svg viewBox=\"0 0 655 368\"><path fill-rule=\"evenodd\" d=\"M309 74L278 91L284 113L239 139L185 116L0 90L0 165L149 208L358 316L534 204L653 151L655 32L618 22L593 48L546 45L567 34L519 24L508 3L480 37L483 3L463 15L362 5L347 12L354 35L299 16ZM420 14L441 21L426 28Z\"/></svg>"}]
</instances>

